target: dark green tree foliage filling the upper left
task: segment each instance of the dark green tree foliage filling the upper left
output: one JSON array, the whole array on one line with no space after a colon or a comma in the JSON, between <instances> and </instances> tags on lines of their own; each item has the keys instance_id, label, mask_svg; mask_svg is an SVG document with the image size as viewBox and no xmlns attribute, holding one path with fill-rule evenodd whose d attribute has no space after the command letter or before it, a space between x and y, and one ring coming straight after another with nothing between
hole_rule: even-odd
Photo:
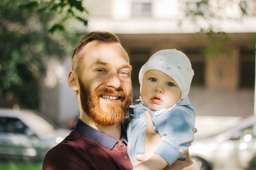
<instances>
[{"instance_id":1,"label":"dark green tree foliage filling the upper left","mask_svg":"<svg viewBox=\"0 0 256 170\"><path fill-rule=\"evenodd\" d=\"M56 2L0 1L0 99L4 101L0 106L18 104L37 110L44 61L50 57L62 60L72 53L79 37L74 28L67 26L69 23L58 24L58 18L62 7L73 12L83 8L79 7L80 1L58 1L60 6L54 7ZM47 6L49 3L51 6ZM53 24L50 28L49 23Z\"/></svg>"}]
</instances>

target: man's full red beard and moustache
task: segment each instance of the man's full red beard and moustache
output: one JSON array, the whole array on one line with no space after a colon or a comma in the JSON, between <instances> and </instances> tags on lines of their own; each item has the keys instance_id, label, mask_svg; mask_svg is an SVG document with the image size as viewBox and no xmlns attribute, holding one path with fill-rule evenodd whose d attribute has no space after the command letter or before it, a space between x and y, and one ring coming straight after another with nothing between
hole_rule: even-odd
<instances>
[{"instance_id":1,"label":"man's full red beard and moustache","mask_svg":"<svg viewBox=\"0 0 256 170\"><path fill-rule=\"evenodd\" d=\"M124 121L125 115L132 103L132 90L125 93L123 89L100 88L90 92L90 87L85 87L79 79L80 99L83 111L102 126L116 125ZM121 104L100 105L100 98L109 94L118 95Z\"/></svg>"}]
</instances>

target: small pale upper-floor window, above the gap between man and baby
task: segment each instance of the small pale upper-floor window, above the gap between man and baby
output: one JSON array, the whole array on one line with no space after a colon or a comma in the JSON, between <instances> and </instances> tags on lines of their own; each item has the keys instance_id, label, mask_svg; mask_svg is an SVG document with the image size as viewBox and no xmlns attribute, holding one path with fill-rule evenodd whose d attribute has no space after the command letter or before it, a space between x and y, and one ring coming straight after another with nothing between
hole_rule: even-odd
<instances>
[{"instance_id":1,"label":"small pale upper-floor window, above the gap between man and baby","mask_svg":"<svg viewBox=\"0 0 256 170\"><path fill-rule=\"evenodd\" d=\"M152 3L132 3L132 17L151 17Z\"/></svg>"}]
</instances>

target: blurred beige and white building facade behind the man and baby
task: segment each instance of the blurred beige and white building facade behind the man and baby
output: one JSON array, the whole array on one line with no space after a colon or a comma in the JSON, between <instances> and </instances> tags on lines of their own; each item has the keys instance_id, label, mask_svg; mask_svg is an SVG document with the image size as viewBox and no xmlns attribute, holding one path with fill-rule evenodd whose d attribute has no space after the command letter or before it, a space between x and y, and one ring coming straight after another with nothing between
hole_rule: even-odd
<instances>
[{"instance_id":1,"label":"blurred beige and white building facade behind the man and baby","mask_svg":"<svg viewBox=\"0 0 256 170\"><path fill-rule=\"evenodd\" d=\"M84 0L84 5L87 31L117 34L129 53L134 101L143 63L158 50L176 48L195 71L189 99L197 115L253 115L255 0ZM63 73L70 69L67 63ZM60 87L59 117L67 119L77 114L77 99L61 96L66 81Z\"/></svg>"}]
</instances>

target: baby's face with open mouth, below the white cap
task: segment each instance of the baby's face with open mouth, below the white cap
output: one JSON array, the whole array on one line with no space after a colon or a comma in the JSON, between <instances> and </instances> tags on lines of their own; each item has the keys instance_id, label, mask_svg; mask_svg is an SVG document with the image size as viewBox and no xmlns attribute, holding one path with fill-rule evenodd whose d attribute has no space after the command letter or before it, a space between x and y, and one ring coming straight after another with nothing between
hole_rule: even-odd
<instances>
[{"instance_id":1,"label":"baby's face with open mouth, below the white cap","mask_svg":"<svg viewBox=\"0 0 256 170\"><path fill-rule=\"evenodd\" d=\"M141 99L151 110L169 108L179 101L180 96L179 86L167 74L154 69L144 74Z\"/></svg>"}]
</instances>

